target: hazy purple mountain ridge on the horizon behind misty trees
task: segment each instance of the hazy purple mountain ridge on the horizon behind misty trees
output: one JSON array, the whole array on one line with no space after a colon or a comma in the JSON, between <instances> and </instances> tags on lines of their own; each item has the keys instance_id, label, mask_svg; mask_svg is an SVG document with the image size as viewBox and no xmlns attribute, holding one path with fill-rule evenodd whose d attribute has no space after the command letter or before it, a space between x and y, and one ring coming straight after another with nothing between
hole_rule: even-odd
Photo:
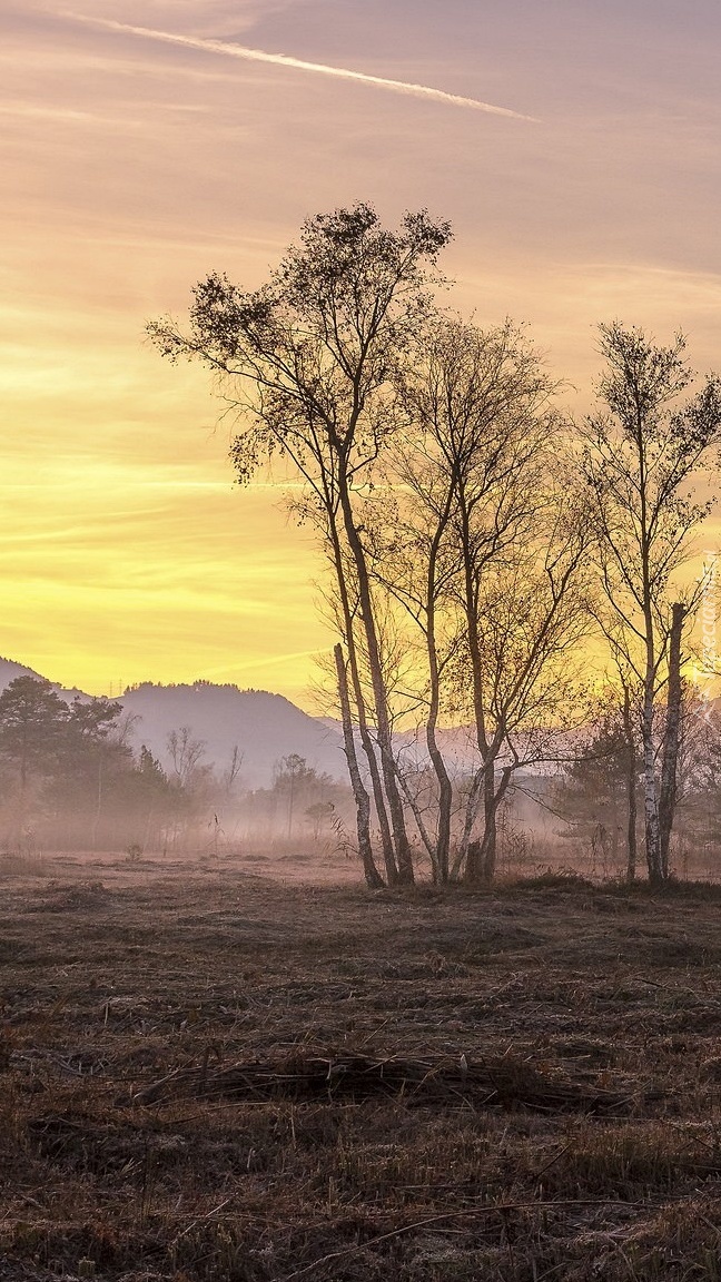
<instances>
[{"instance_id":1,"label":"hazy purple mountain ridge on the horizon behind misty trees","mask_svg":"<svg viewBox=\"0 0 721 1282\"><path fill-rule=\"evenodd\" d=\"M0 659L0 691L15 677L38 677L22 663ZM83 696L80 690L58 694L68 703ZM327 719L309 717L289 699L264 690L239 690L200 681L191 686L155 686L150 682L127 690L118 699L131 718L131 740L136 749L145 744L168 764L168 735L187 727L190 736L204 745L204 760L218 770L227 769L233 749L242 758L240 776L246 787L266 787L273 767L296 753L308 765L334 778L345 777L345 758L339 728Z\"/></svg>"}]
</instances>

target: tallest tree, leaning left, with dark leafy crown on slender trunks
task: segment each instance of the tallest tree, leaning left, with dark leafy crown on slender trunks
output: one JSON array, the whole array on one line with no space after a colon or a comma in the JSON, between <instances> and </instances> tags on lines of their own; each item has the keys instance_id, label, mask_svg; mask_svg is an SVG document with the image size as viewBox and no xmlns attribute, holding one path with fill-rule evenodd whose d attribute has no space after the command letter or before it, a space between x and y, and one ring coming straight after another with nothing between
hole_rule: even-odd
<instances>
[{"instance_id":1,"label":"tallest tree, leaning left, with dark leafy crown on slender trunks","mask_svg":"<svg viewBox=\"0 0 721 1282\"><path fill-rule=\"evenodd\" d=\"M213 274L195 290L187 335L171 320L150 326L164 355L203 360L242 417L232 447L239 479L248 481L278 453L305 482L304 514L321 531L336 573L349 685L359 718L375 724L380 763L371 737L362 735L362 742L381 824L387 813L386 869L402 882L413 881L413 865L358 496L393 432L389 377L427 312L427 286L449 238L448 223L434 223L425 212L405 214L396 232L382 228L366 204L318 214L304 223L300 245L263 288L242 292ZM349 563L357 612L345 577ZM359 673L360 637L371 709Z\"/></svg>"}]
</instances>

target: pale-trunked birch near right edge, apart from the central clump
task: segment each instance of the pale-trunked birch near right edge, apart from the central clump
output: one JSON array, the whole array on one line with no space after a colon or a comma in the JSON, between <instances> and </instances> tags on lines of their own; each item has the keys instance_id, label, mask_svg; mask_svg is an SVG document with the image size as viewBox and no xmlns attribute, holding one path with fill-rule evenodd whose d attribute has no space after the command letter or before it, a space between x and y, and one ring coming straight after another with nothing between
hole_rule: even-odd
<instances>
[{"instance_id":1,"label":"pale-trunked birch near right edge, apart from the central clump","mask_svg":"<svg viewBox=\"0 0 721 1282\"><path fill-rule=\"evenodd\" d=\"M721 440L718 378L709 377L695 396L680 401L693 379L684 351L681 335L670 347L659 347L641 329L600 326L604 409L588 420L584 458L603 600L598 618L643 691L644 831L652 883L668 876L683 624L699 600L698 590L684 594L679 570L713 504L694 499L694 486L708 474ZM659 699L671 673L659 779Z\"/></svg>"}]
</instances>

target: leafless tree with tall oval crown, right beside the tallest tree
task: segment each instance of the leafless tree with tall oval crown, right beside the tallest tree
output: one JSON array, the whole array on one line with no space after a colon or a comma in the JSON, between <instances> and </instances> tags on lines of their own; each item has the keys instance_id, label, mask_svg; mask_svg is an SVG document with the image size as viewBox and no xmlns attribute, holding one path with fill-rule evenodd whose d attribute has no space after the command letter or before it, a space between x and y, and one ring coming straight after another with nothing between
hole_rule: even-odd
<instances>
[{"instance_id":1,"label":"leafless tree with tall oval crown, right beside the tallest tree","mask_svg":"<svg viewBox=\"0 0 721 1282\"><path fill-rule=\"evenodd\" d=\"M443 713L470 714L480 758L454 868L490 879L498 808L513 773L539 759L541 740L547 751L549 718L570 695L562 669L585 627L573 595L585 536L554 390L509 322L482 332L437 319L403 370L411 427L387 453L394 501L375 568L422 638L440 881L450 873L454 804L437 738ZM484 833L472 845L479 809Z\"/></svg>"}]
</instances>

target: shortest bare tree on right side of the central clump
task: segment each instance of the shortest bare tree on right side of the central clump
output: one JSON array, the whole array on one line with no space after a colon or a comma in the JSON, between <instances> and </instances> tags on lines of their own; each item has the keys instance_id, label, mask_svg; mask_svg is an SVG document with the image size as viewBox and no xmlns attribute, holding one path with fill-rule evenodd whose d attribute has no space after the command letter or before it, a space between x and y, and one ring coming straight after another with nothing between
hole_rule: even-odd
<instances>
[{"instance_id":1,"label":"shortest bare tree on right side of the central clump","mask_svg":"<svg viewBox=\"0 0 721 1282\"><path fill-rule=\"evenodd\" d=\"M461 855L476 799L484 814L480 841L467 845L470 881L493 879L496 814L514 774L567 756L567 732L585 719L579 651L589 631L586 545L576 495L556 491L548 508L539 509L535 536L507 551L503 564L486 568L485 583L473 594L475 613L466 606L480 765Z\"/></svg>"}]
</instances>

